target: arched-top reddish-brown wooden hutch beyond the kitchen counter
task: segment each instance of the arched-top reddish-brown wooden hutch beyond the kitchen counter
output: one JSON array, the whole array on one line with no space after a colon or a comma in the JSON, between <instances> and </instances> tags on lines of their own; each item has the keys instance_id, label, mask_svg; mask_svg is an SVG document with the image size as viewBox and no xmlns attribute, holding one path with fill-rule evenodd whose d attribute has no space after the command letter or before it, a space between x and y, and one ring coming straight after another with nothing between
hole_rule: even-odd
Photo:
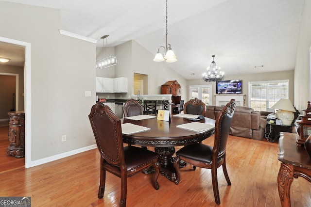
<instances>
[{"instance_id":1,"label":"arched-top reddish-brown wooden hutch beyond the kitchen counter","mask_svg":"<svg viewBox=\"0 0 311 207\"><path fill-rule=\"evenodd\" d=\"M161 94L172 94L172 103L179 104L181 96L181 86L177 80L170 80L161 86Z\"/></svg>"}]
</instances>

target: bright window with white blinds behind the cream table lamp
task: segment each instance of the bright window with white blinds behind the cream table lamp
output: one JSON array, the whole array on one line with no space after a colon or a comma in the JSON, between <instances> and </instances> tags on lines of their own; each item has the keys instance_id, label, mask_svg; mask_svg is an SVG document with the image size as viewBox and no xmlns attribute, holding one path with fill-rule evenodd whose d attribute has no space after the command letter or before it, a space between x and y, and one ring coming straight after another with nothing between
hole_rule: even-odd
<instances>
[{"instance_id":1,"label":"bright window with white blinds behind the cream table lamp","mask_svg":"<svg viewBox=\"0 0 311 207\"><path fill-rule=\"evenodd\" d=\"M248 105L256 111L269 111L280 98L289 98L289 80L248 82Z\"/></svg>"}]
</instances>

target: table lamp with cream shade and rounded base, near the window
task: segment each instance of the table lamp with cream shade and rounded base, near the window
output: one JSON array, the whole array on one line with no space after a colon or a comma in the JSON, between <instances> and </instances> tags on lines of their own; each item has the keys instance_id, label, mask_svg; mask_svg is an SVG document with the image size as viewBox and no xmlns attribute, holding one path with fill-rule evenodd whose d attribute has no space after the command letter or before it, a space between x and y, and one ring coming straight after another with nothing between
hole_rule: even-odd
<instances>
[{"instance_id":1,"label":"table lamp with cream shade and rounded base, near the window","mask_svg":"<svg viewBox=\"0 0 311 207\"><path fill-rule=\"evenodd\" d=\"M292 125L294 112L296 112L296 110L290 99L281 98L271 108L278 109L276 115L282 125Z\"/></svg>"}]
</instances>

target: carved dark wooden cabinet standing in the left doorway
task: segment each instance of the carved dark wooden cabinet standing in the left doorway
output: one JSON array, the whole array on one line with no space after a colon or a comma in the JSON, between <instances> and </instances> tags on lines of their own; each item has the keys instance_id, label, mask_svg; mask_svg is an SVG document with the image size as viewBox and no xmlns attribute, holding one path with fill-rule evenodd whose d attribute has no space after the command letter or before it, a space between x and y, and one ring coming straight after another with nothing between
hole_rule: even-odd
<instances>
[{"instance_id":1,"label":"carved dark wooden cabinet standing in the left doorway","mask_svg":"<svg viewBox=\"0 0 311 207\"><path fill-rule=\"evenodd\" d=\"M10 117L9 146L6 154L16 158L25 157L25 113L24 111L11 111L8 115Z\"/></svg>"}]
</instances>

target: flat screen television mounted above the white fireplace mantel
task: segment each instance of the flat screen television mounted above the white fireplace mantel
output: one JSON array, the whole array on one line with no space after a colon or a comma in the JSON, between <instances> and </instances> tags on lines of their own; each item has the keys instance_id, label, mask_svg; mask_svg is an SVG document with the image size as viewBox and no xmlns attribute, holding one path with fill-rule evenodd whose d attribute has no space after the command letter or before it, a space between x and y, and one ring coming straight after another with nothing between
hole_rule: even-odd
<instances>
[{"instance_id":1,"label":"flat screen television mounted above the white fireplace mantel","mask_svg":"<svg viewBox=\"0 0 311 207\"><path fill-rule=\"evenodd\" d=\"M242 80L223 80L216 82L217 94L242 94Z\"/></svg>"}]
</instances>

